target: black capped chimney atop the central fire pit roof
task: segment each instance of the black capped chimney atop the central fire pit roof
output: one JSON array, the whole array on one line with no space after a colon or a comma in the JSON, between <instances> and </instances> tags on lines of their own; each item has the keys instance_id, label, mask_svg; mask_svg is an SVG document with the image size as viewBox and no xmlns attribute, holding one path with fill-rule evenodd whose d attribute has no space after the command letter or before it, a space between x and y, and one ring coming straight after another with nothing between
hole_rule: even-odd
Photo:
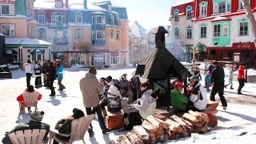
<instances>
[{"instance_id":1,"label":"black capped chimney atop the central fire pit roof","mask_svg":"<svg viewBox=\"0 0 256 144\"><path fill-rule=\"evenodd\" d=\"M163 26L158 26L155 33L155 45L158 49L166 48L166 35L168 31Z\"/></svg>"}]
</instances>

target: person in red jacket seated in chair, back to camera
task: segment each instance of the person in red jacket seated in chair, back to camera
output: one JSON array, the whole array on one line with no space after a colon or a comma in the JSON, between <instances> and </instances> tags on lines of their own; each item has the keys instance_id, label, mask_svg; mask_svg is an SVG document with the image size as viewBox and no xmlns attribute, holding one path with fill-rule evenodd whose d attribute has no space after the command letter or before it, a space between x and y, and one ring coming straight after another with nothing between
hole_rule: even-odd
<instances>
[{"instance_id":1,"label":"person in red jacket seated in chair, back to camera","mask_svg":"<svg viewBox=\"0 0 256 144\"><path fill-rule=\"evenodd\" d=\"M26 91L24 91L22 94L20 94L18 97L17 97L17 101L18 101L18 104L19 104L19 110L20 110L20 114L22 114L23 110L25 110L25 102L24 102L24 98L23 96L27 96L27 95L31 95L33 97L36 97L38 96L38 100L40 100L42 98L42 94L38 93L37 91L34 91L34 86L30 85L26 88ZM30 106L28 107L28 111L29 112L32 112L30 110Z\"/></svg>"}]
</instances>

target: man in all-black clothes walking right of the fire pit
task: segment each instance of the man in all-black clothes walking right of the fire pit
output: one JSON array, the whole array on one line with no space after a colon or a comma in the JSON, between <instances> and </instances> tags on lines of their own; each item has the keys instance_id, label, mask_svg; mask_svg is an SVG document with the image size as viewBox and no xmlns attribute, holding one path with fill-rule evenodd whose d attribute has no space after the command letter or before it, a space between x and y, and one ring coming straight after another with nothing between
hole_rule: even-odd
<instances>
[{"instance_id":1,"label":"man in all-black clothes walking right of the fire pit","mask_svg":"<svg viewBox=\"0 0 256 144\"><path fill-rule=\"evenodd\" d=\"M214 66L214 70L210 77L210 82L213 83L213 87L210 92L210 100L215 102L215 94L218 93L222 102L223 110L226 110L227 103L226 98L224 97L224 69L221 66L218 66L217 61L213 61L212 66Z\"/></svg>"}]
</instances>

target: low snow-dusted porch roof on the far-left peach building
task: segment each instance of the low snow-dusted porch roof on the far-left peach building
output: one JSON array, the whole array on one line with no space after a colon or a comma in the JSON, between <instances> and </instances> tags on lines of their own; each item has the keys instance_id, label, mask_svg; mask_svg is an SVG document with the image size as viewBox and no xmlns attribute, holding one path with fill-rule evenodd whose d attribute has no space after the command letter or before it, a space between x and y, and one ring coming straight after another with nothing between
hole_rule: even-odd
<instances>
[{"instance_id":1,"label":"low snow-dusted porch roof on the far-left peach building","mask_svg":"<svg viewBox=\"0 0 256 144\"><path fill-rule=\"evenodd\" d=\"M6 45L52 45L40 39L31 38L6 38Z\"/></svg>"}]
</instances>

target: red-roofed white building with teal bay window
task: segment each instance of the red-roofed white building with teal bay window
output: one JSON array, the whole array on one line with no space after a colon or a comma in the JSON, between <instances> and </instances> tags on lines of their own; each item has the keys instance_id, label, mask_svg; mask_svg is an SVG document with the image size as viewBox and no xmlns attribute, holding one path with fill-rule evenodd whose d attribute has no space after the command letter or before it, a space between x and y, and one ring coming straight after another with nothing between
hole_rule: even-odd
<instances>
[{"instance_id":1,"label":"red-roofed white building with teal bay window","mask_svg":"<svg viewBox=\"0 0 256 144\"><path fill-rule=\"evenodd\" d=\"M256 1L248 0L256 16ZM171 7L172 34L198 61L244 62L256 68L250 22L239 0L186 0Z\"/></svg>"}]
</instances>

